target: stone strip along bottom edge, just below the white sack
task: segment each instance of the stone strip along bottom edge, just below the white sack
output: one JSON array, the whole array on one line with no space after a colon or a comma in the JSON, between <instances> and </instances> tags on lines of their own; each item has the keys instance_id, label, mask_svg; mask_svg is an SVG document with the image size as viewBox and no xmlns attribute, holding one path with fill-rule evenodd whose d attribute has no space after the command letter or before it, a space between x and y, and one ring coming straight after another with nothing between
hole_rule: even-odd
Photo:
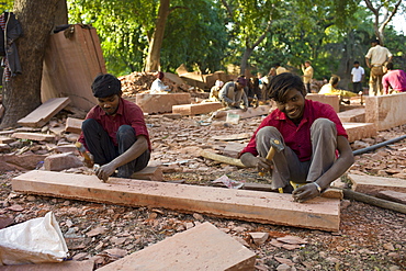
<instances>
[{"instance_id":1,"label":"stone strip along bottom edge, just below the white sack","mask_svg":"<svg viewBox=\"0 0 406 271\"><path fill-rule=\"evenodd\" d=\"M0 271L92 271L93 260L86 261L63 261L56 263L36 263L36 264L15 264L0 267Z\"/></svg>"}]
</instances>

